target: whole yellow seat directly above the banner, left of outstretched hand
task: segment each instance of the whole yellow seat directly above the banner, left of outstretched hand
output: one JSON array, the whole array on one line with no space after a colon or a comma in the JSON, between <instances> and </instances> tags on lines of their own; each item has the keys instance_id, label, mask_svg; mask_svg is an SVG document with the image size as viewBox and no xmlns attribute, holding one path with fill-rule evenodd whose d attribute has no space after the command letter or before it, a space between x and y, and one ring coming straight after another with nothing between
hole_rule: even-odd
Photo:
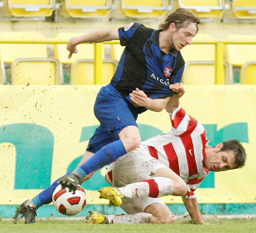
<instances>
[{"instance_id":1,"label":"whole yellow seat directly above the banner, left of outstretched hand","mask_svg":"<svg viewBox=\"0 0 256 233\"><path fill-rule=\"evenodd\" d=\"M20 58L12 63L13 85L60 84L60 65L55 58Z\"/></svg>"}]
</instances>

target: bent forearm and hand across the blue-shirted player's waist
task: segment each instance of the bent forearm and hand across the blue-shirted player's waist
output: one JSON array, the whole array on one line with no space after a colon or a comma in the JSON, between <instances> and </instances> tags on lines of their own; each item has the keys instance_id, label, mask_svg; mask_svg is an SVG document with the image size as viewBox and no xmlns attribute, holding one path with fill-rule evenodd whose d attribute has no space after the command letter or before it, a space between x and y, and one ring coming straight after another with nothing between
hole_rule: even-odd
<instances>
[{"instance_id":1,"label":"bent forearm and hand across the blue-shirted player's waist","mask_svg":"<svg viewBox=\"0 0 256 233\"><path fill-rule=\"evenodd\" d=\"M145 107L154 112L161 112L170 99L170 96L161 99L151 99L139 88L130 93L130 97L135 106Z\"/></svg>"}]
</instances>

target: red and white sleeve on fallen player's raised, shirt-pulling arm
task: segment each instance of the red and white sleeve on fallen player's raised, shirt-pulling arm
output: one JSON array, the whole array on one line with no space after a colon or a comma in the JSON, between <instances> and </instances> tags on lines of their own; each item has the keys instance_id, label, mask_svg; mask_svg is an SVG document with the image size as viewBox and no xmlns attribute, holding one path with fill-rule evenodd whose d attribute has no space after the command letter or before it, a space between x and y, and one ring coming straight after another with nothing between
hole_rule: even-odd
<instances>
[{"instance_id":1,"label":"red and white sleeve on fallen player's raised, shirt-pulling arm","mask_svg":"<svg viewBox=\"0 0 256 233\"><path fill-rule=\"evenodd\" d=\"M198 121L189 116L181 106L177 107L172 114L170 114L172 121L172 133L175 136L190 135L198 124Z\"/></svg>"}]
</instances>

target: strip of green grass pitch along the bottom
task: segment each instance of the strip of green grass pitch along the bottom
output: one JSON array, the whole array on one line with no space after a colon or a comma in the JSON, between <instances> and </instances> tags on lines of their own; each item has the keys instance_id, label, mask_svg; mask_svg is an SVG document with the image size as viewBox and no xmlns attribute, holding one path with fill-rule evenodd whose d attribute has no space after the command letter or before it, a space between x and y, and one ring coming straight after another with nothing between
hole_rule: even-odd
<instances>
[{"instance_id":1,"label":"strip of green grass pitch along the bottom","mask_svg":"<svg viewBox=\"0 0 256 233\"><path fill-rule=\"evenodd\" d=\"M207 220L208 225L195 225L189 221L177 220L175 225L158 224L131 224L131 225L87 225L84 220L40 220L36 225L24 224L21 219L17 224L10 220L0 220L0 233L255 233L256 218L249 219L216 219Z\"/></svg>"}]
</instances>

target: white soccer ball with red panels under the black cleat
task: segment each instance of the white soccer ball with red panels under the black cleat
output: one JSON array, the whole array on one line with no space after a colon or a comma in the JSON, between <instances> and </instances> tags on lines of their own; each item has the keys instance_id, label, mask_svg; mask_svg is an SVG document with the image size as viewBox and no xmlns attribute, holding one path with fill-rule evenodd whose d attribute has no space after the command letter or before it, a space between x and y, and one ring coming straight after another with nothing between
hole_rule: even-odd
<instances>
[{"instance_id":1,"label":"white soccer ball with red panels under the black cleat","mask_svg":"<svg viewBox=\"0 0 256 233\"><path fill-rule=\"evenodd\" d=\"M57 186L52 195L55 209L63 215L76 215L86 206L86 192L78 185L75 194L69 192L68 188L61 189Z\"/></svg>"}]
</instances>

